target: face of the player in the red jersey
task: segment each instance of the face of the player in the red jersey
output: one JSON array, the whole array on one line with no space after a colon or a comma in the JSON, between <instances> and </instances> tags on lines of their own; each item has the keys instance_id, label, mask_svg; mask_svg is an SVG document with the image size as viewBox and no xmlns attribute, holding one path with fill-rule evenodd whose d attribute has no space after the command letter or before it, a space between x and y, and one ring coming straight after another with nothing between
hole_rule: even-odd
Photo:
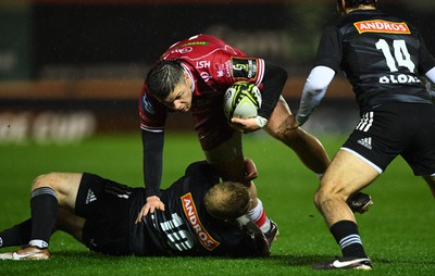
<instances>
[{"instance_id":1,"label":"face of the player in the red jersey","mask_svg":"<svg viewBox=\"0 0 435 276\"><path fill-rule=\"evenodd\" d=\"M191 108L191 80L188 76L175 86L174 90L163 100L163 103L175 111L188 112Z\"/></svg>"}]
</instances>

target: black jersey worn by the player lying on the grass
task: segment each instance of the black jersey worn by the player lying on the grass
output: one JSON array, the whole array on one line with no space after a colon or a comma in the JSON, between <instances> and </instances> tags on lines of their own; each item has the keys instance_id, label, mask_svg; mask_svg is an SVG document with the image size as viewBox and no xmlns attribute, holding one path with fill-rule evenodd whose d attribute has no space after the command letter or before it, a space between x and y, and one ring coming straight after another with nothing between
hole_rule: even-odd
<instances>
[{"instance_id":1,"label":"black jersey worn by the player lying on the grass","mask_svg":"<svg viewBox=\"0 0 435 276\"><path fill-rule=\"evenodd\" d=\"M207 162L189 165L185 176L162 190L165 211L146 216L145 223L132 224L130 248L137 255L259 255L249 234L239 225L210 216L204 208L207 191L220 178ZM137 189L132 218L145 204L144 189Z\"/></svg>"}]
</instances>

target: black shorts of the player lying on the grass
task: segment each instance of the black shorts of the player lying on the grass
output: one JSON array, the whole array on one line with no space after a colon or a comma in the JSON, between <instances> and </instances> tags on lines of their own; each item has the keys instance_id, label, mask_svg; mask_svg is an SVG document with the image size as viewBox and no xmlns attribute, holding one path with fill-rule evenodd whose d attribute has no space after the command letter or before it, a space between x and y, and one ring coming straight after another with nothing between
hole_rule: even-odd
<instances>
[{"instance_id":1,"label":"black shorts of the player lying on the grass","mask_svg":"<svg viewBox=\"0 0 435 276\"><path fill-rule=\"evenodd\" d=\"M86 218L83 241L89 249L111 254L130 254L128 246L132 188L83 174L75 203L76 215Z\"/></svg>"}]
</instances>

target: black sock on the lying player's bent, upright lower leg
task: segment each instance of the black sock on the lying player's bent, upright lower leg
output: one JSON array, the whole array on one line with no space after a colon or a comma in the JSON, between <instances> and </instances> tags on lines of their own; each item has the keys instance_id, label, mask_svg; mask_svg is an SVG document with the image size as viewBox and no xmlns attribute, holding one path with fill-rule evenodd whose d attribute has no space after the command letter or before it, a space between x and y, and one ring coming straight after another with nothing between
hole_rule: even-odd
<instances>
[{"instance_id":1,"label":"black sock on the lying player's bent, upright lower leg","mask_svg":"<svg viewBox=\"0 0 435 276\"><path fill-rule=\"evenodd\" d=\"M30 195L30 246L47 248L58 218L58 199L51 188L35 189Z\"/></svg>"}]
</instances>

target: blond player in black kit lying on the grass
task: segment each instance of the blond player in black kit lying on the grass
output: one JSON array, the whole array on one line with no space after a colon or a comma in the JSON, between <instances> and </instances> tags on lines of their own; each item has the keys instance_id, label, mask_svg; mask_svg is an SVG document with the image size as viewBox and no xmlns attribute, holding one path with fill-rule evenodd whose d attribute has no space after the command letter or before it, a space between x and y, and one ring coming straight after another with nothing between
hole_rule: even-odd
<instances>
[{"instance_id":1,"label":"blond player in black kit lying on the grass","mask_svg":"<svg viewBox=\"0 0 435 276\"><path fill-rule=\"evenodd\" d=\"M247 177L256 178L252 161L246 164ZM32 186L32 218L0 233L0 248L22 247L0 259L50 259L55 230L109 255L270 255L264 235L245 215L252 201L249 190L219 181L207 162L192 163L161 191L165 210L142 217L144 188L88 173L41 175Z\"/></svg>"}]
</instances>

